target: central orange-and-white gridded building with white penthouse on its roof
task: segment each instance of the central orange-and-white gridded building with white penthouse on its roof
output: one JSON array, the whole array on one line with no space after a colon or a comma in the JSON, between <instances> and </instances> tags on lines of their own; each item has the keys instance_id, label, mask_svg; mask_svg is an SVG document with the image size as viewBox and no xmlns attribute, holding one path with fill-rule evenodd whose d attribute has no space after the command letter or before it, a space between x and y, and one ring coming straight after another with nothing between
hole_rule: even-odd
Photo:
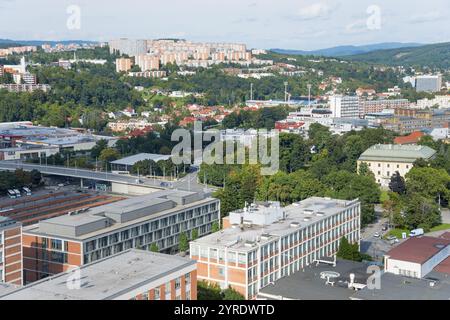
<instances>
[{"instance_id":1,"label":"central orange-and-white gridded building with white penthouse on its roof","mask_svg":"<svg viewBox=\"0 0 450 320\"><path fill-rule=\"evenodd\" d=\"M309 198L285 208L252 204L231 212L224 230L190 243L199 281L231 286L247 299L261 288L323 257L333 257L342 237L360 241L358 200Z\"/></svg>"}]
</instances>

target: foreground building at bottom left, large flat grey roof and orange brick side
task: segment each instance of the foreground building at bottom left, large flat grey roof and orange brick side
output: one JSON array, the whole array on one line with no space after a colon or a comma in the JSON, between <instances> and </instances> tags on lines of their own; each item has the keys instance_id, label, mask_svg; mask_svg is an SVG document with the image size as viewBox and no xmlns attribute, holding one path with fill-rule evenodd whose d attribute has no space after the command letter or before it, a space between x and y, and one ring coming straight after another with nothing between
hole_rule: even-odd
<instances>
[{"instance_id":1,"label":"foreground building at bottom left, large flat grey roof and orange brick side","mask_svg":"<svg viewBox=\"0 0 450 320\"><path fill-rule=\"evenodd\" d=\"M196 300L195 261L131 249L23 288L0 300Z\"/></svg>"}]
</instances>

